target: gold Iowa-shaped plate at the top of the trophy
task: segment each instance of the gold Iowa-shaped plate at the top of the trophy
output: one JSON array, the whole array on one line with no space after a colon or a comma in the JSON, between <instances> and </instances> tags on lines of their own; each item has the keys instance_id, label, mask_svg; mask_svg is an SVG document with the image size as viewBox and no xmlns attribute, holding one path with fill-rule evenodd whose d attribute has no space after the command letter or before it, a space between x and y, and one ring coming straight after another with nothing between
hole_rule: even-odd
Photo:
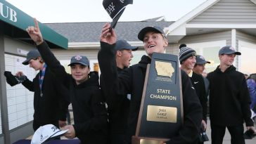
<instances>
[{"instance_id":1,"label":"gold Iowa-shaped plate at the top of the trophy","mask_svg":"<svg viewBox=\"0 0 256 144\"><path fill-rule=\"evenodd\" d=\"M157 60L155 60L155 70L158 75L165 77L172 77L172 73L174 72L172 63L160 62Z\"/></svg>"}]
</instances>

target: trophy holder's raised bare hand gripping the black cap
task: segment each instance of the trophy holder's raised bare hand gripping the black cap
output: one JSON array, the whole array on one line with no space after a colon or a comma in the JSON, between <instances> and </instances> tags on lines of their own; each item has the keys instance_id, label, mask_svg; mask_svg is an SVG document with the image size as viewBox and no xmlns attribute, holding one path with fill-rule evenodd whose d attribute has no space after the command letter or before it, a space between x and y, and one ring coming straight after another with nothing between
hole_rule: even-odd
<instances>
[{"instance_id":1,"label":"trophy holder's raised bare hand gripping the black cap","mask_svg":"<svg viewBox=\"0 0 256 144\"><path fill-rule=\"evenodd\" d=\"M109 30L110 29L110 23L107 22L105 25L103 25L103 28L101 30L101 41L108 43L108 44L115 44L117 41L117 35L115 34L115 30Z\"/></svg>"}]
</instances>

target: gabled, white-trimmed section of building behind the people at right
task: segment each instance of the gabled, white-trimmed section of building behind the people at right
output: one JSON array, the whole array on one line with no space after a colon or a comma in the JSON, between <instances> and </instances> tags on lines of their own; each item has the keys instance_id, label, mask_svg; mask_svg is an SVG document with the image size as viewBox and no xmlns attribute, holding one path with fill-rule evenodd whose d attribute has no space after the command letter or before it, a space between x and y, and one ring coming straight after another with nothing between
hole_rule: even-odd
<instances>
[{"instance_id":1,"label":"gabled, white-trimmed section of building behind the people at right","mask_svg":"<svg viewBox=\"0 0 256 144\"><path fill-rule=\"evenodd\" d=\"M174 49L185 43L210 60L208 71L219 65L219 48L233 46L242 53L234 63L237 70L255 73L255 18L255 0L207 0L166 30Z\"/></svg>"}]
</instances>

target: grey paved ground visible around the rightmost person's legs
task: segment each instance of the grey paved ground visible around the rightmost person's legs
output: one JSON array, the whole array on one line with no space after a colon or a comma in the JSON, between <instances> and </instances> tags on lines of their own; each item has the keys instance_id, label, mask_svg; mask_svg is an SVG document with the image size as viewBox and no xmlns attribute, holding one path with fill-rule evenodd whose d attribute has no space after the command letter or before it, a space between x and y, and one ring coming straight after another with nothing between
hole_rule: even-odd
<instances>
[{"instance_id":1,"label":"grey paved ground visible around the rightmost person's legs","mask_svg":"<svg viewBox=\"0 0 256 144\"><path fill-rule=\"evenodd\" d=\"M211 133L210 133L210 120L207 121L207 136L210 139L209 141L205 142L205 144L210 144L211 143ZM256 126L256 124L255 124ZM246 129L246 128L245 128ZM224 136L223 144L230 144L231 143L231 136L229 134L229 130L226 129L226 134ZM245 140L246 144L256 144L256 137L252 138L251 140Z\"/></svg>"}]
</instances>

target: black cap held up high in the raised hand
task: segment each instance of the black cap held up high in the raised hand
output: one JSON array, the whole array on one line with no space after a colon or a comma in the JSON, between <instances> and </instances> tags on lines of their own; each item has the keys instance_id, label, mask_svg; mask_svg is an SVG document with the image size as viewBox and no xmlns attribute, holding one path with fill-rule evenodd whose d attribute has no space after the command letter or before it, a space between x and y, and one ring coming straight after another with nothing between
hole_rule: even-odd
<instances>
[{"instance_id":1,"label":"black cap held up high in the raised hand","mask_svg":"<svg viewBox=\"0 0 256 144\"><path fill-rule=\"evenodd\" d=\"M112 18L111 27L115 28L117 21L124 13L124 9L128 4L132 4L133 0L103 0L102 4L105 8L105 11L108 12L108 15Z\"/></svg>"}]
</instances>

